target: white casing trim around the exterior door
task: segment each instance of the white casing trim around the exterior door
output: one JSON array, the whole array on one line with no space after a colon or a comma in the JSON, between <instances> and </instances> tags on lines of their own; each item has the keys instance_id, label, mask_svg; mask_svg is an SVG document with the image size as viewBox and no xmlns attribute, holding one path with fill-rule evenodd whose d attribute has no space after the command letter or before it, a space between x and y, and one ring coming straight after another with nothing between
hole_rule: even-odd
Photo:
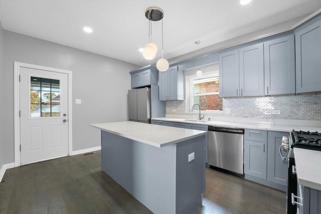
<instances>
[{"instance_id":1,"label":"white casing trim around the exterior door","mask_svg":"<svg viewBox=\"0 0 321 214\"><path fill-rule=\"evenodd\" d=\"M32 65L27 63L15 62L14 69L14 120L15 120L15 167L21 165L20 159L20 68L32 68L39 70L46 70L52 72L59 72L68 75L68 147L69 155L72 155L72 72L57 68L50 68L39 65Z\"/></svg>"}]
</instances>

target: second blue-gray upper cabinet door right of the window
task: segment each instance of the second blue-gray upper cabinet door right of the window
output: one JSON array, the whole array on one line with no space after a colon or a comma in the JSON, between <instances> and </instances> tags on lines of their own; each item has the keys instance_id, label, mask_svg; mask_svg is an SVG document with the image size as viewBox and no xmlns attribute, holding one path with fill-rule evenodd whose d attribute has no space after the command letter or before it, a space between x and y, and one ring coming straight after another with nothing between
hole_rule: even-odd
<instances>
[{"instance_id":1,"label":"second blue-gray upper cabinet door right of the window","mask_svg":"<svg viewBox=\"0 0 321 214\"><path fill-rule=\"evenodd\" d=\"M263 43L241 48L240 96L264 95Z\"/></svg>"}]
</instances>

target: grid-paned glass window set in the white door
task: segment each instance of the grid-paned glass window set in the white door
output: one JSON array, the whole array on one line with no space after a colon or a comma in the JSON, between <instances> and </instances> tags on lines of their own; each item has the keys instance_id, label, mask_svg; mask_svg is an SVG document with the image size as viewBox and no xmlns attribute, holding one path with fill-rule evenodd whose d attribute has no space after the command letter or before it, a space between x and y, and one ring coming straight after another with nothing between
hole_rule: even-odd
<instances>
[{"instance_id":1,"label":"grid-paned glass window set in the white door","mask_svg":"<svg viewBox=\"0 0 321 214\"><path fill-rule=\"evenodd\" d=\"M31 117L60 116L60 81L40 77L30 78Z\"/></svg>"}]
</instances>

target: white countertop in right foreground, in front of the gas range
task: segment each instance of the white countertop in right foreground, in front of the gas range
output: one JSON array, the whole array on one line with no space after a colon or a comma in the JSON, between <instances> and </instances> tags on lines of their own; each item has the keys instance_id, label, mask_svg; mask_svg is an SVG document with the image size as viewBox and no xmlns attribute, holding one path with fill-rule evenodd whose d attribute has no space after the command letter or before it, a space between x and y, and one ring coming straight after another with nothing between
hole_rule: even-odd
<instances>
[{"instance_id":1,"label":"white countertop in right foreground, in front of the gas range","mask_svg":"<svg viewBox=\"0 0 321 214\"><path fill-rule=\"evenodd\" d=\"M294 148L297 183L321 191L321 151Z\"/></svg>"}]
</instances>

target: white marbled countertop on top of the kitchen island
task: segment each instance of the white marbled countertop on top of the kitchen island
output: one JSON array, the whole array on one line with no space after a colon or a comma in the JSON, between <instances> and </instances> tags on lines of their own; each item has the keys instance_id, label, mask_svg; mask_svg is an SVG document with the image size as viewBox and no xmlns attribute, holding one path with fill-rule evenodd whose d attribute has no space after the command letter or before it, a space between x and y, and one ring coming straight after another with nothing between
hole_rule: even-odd
<instances>
[{"instance_id":1,"label":"white marbled countertop on top of the kitchen island","mask_svg":"<svg viewBox=\"0 0 321 214\"><path fill-rule=\"evenodd\" d=\"M89 124L95 128L156 147L205 135L205 131L159 126L133 121Z\"/></svg>"}]
</instances>

